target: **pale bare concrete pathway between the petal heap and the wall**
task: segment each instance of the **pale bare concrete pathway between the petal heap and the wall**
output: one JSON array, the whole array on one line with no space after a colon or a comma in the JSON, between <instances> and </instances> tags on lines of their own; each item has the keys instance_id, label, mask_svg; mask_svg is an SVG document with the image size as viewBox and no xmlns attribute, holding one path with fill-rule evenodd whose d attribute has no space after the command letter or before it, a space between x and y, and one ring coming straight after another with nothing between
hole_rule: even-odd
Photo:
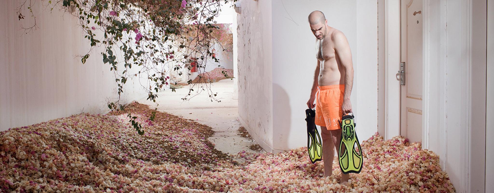
<instances>
[{"instance_id":1,"label":"pale bare concrete pathway between the petal heap and the wall","mask_svg":"<svg viewBox=\"0 0 494 193\"><path fill-rule=\"evenodd\" d=\"M208 84L209 85L209 84ZM224 79L210 84L211 91L217 94L217 102L209 98L207 90L197 91L201 88L196 85L190 96L195 95L189 101L182 98L188 96L189 86L161 91L158 93L156 102L159 104L158 111L193 119L201 124L210 126L214 135L209 137L209 141L215 144L215 148L227 154L237 154L241 151L259 153L249 149L249 146L257 144L253 140L237 135L241 123L238 120L238 100L233 99L233 80ZM155 108L152 101L146 100L147 96L137 100L138 103L150 105ZM196 120L197 119L197 120ZM264 150L261 150L264 152ZM242 160L238 160L242 161Z\"/></svg>"}]
</instances>

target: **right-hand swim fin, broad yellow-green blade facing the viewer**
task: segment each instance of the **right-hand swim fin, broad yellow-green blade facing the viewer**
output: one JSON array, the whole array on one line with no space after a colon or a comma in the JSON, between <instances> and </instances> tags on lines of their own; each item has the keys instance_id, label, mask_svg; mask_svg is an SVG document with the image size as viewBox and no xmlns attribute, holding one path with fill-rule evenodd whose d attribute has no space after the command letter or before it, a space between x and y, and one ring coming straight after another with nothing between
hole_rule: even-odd
<instances>
[{"instance_id":1,"label":"right-hand swim fin, broad yellow-green blade facing the viewer","mask_svg":"<svg viewBox=\"0 0 494 193\"><path fill-rule=\"evenodd\" d=\"M355 132L354 116L341 118L341 142L339 146L339 164L344 174L360 173L363 166L362 148ZM343 149L344 148L344 149Z\"/></svg>"}]
</instances>

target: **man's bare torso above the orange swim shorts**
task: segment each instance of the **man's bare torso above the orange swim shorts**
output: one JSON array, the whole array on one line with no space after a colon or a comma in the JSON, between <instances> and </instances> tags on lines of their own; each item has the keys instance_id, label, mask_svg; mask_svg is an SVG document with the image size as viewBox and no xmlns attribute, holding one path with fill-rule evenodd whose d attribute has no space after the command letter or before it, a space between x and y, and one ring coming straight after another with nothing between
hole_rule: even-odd
<instances>
[{"instance_id":1,"label":"man's bare torso above the orange swim shorts","mask_svg":"<svg viewBox=\"0 0 494 193\"><path fill-rule=\"evenodd\" d=\"M321 61L318 77L320 86L345 83L345 71L334 49L334 40L332 39L332 35L336 31L336 29L331 28L324 39L316 39L316 58Z\"/></svg>"}]
</instances>

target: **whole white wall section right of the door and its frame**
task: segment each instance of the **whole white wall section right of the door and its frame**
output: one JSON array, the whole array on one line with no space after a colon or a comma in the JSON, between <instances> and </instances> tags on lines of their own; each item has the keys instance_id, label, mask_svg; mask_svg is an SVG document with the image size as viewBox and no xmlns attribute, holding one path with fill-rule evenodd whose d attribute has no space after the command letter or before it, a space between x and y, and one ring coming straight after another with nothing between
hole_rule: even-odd
<instances>
[{"instance_id":1,"label":"whole white wall section right of the door and its frame","mask_svg":"<svg viewBox=\"0 0 494 193\"><path fill-rule=\"evenodd\" d=\"M426 0L429 150L457 193L484 192L486 0ZM426 93L427 94L427 93Z\"/></svg>"}]
</instances>

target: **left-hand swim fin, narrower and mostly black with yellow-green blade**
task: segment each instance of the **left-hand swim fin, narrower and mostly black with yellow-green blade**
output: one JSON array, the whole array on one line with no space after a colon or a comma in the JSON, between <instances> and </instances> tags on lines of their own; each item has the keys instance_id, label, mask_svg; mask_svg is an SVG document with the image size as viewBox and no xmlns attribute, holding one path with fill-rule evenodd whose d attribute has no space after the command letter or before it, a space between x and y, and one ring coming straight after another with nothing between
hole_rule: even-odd
<instances>
[{"instance_id":1,"label":"left-hand swim fin, narrower and mostly black with yellow-green blade","mask_svg":"<svg viewBox=\"0 0 494 193\"><path fill-rule=\"evenodd\" d=\"M307 116L305 118L307 121L307 150L309 151L310 161L315 163L323 157L321 136L319 136L319 132L317 131L316 123L314 123L316 112L312 109L307 109L305 110L305 115Z\"/></svg>"}]
</instances>

